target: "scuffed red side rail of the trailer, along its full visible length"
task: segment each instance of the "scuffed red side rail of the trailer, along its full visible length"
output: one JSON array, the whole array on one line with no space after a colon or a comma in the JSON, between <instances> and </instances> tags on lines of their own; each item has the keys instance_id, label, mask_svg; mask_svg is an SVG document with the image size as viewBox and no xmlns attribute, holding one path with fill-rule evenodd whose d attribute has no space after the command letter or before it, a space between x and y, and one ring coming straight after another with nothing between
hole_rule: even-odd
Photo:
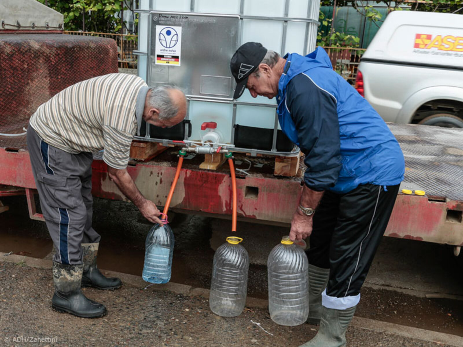
<instances>
[{"instance_id":1,"label":"scuffed red side rail of the trailer, along its full visible length","mask_svg":"<svg viewBox=\"0 0 463 347\"><path fill-rule=\"evenodd\" d=\"M156 161L127 167L140 191L156 204L165 203L175 175L175 150L166 151ZM101 198L126 200L107 174L106 164L96 155L93 167L93 194ZM185 160L172 199L173 209L207 213L221 217L232 213L231 178L227 165L217 172L199 170L195 161ZM248 165L249 166L249 165ZM290 223L300 198L297 178L276 178L265 168L238 178L238 217L265 223ZM0 184L35 188L27 151L0 149ZM450 212L449 212L450 211ZM385 235L427 242L463 245L462 201L430 201L427 197L399 194Z\"/></svg>"}]
</instances>

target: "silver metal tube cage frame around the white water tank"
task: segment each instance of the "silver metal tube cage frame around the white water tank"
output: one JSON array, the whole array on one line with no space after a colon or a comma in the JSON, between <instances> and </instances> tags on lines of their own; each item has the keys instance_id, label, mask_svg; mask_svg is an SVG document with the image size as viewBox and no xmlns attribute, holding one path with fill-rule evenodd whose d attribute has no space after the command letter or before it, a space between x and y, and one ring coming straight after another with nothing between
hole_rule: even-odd
<instances>
[{"instance_id":1,"label":"silver metal tube cage frame around the white water tank","mask_svg":"<svg viewBox=\"0 0 463 347\"><path fill-rule=\"evenodd\" d=\"M203 12L194 12L195 9L195 0L190 0L190 11L191 12L168 12L168 11L157 11L157 10L143 10L143 9L137 9L135 12L140 13L140 14L147 14L148 15L148 43L147 43L147 51L141 51L137 50L134 51L134 54L138 56L147 56L146 59L146 74L147 76L150 76L150 65L151 65L151 60L150 54L148 52L151 52L151 15L153 13L163 13L163 14L173 14L173 15L200 15L200 16L234 16L238 17L239 19L239 25L238 25L238 44L237 48L241 45L241 37L243 34L243 25L244 25L244 19L257 19L257 20L271 20L271 21L279 21L283 23L283 30L282 30L282 45L281 45L281 52L285 52L285 47L286 47L286 41L287 41L287 27L288 27L288 22L300 22L300 23L306 23L306 28L305 28L305 38L304 38L304 50L303 54L306 55L308 52L312 51L315 49L315 44L316 44L316 34L318 30L318 25L320 24L318 20L318 5L319 1L318 0L313 0L309 1L307 5L307 18L295 18L295 17L288 17L289 13L289 4L290 0L284 0L284 17L266 17L266 16L253 16L253 15L244 15L244 3L245 0L240 0L240 10L239 14L222 14L222 13L203 13ZM153 8L153 1L150 0L150 9ZM315 11L317 10L317 11ZM139 31L140 31L141 25L139 25ZM139 35L140 37L140 35ZM140 47L140 42L138 43ZM140 61L140 60L139 60ZM138 75L140 75L140 67L138 66ZM147 76L144 78L145 81L148 80ZM232 81L234 83L234 81ZM213 102L213 103L221 103L221 104L232 104L232 126L231 126L231 146L230 147L222 147L226 148L232 152L241 152L241 153L250 153L251 156L256 156L257 154L263 154L263 155L279 155L279 156L296 156L299 155L300 150L297 148L297 146L294 146L294 149L290 152L279 152L276 149L276 143L277 143L277 133L278 133L278 113L276 112L276 107L277 105L275 104L266 104L266 103L253 103L253 102L245 102L245 101L237 101L233 99L220 99L220 98L213 98L213 97L198 97L196 95L186 95L187 96L187 109L189 110L190 108L190 101L207 101L207 102ZM238 148L234 147L234 136L235 136L235 127L234 125L236 124L236 116L237 116L237 105L248 105L248 106L259 106L259 107L271 107L275 109L275 119L274 119L274 127L273 127L273 140L272 140L272 148L271 150L262 150L262 149L249 149L249 148ZM187 116L185 119L190 119L189 118L189 112L187 112ZM188 127L191 127L191 124L188 124ZM150 137L150 127L146 127L146 135L145 136L135 136L138 140L142 141L150 141L150 142L157 142L161 143L164 146L168 145L178 145L178 141L174 140L169 140L169 139L159 139L159 138L152 138ZM188 131L185 131L185 138L184 142L188 144Z\"/></svg>"}]
</instances>

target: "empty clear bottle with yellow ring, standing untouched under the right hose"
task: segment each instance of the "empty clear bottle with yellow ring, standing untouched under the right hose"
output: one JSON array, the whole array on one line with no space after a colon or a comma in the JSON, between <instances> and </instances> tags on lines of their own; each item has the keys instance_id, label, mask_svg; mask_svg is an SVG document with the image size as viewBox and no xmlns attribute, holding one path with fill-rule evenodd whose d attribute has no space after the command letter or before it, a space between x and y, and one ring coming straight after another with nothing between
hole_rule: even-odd
<instances>
[{"instance_id":1,"label":"empty clear bottle with yellow ring, standing untouched under the right hose","mask_svg":"<svg viewBox=\"0 0 463 347\"><path fill-rule=\"evenodd\" d=\"M209 307L222 317L238 316L246 303L249 255L239 243L241 237L230 236L214 254Z\"/></svg>"}]
</instances>

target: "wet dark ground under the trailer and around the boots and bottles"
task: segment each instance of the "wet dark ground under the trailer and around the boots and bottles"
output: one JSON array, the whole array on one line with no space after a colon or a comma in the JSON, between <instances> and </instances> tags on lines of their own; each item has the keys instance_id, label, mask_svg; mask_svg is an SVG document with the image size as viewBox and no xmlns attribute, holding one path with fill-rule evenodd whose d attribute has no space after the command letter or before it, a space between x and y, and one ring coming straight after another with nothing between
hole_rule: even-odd
<instances>
[{"instance_id":1,"label":"wet dark ground under the trailer and around the boots and bottles","mask_svg":"<svg viewBox=\"0 0 463 347\"><path fill-rule=\"evenodd\" d=\"M2 198L2 201L10 205L11 209L0 214L0 252L12 251L29 257L43 258L51 250L44 223L28 219L25 197ZM173 213L169 219L175 233L171 281L209 288L214 254L210 247L210 239L214 229L228 228L230 221L182 214L174 216ZM262 230L265 233L271 229L264 225L249 224L238 223L238 230L255 229L259 230L258 235L262 235ZM144 238L150 224L144 221L137 209L129 203L95 199L94 229L102 235L99 267L140 276L143 269ZM275 238L276 244L279 234L280 232L269 232L268 237ZM258 237L253 239L252 235L247 236L249 243L258 243L260 240L262 239ZM451 255L451 249L431 243L384 238L366 284L362 288L362 299L356 317L463 336L462 280L461 267ZM208 303L204 298L182 296L177 302L175 294L151 292L150 289L141 291L141 286L131 285L115 292L87 290L89 297L108 305L110 313L101 320L88 322L69 315L64 315L69 317L63 318L63 315L58 315L50 308L50 270L12 266L0 262L0 281L0 333L3 327L6 327L5 332L13 335L25 335L26 332L32 333L34 329L40 330L40 327L43 327L44 331L62 337L63 340L56 343L56 346L75 344L77 340L71 336L72 333L64 331L72 330L71 326L75 322L79 322L78 330L81 336L96 334L96 337L92 338L96 339L94 343L97 345L102 344L102 336L106 336L112 345L145 343L150 346L175 346L176 343L177 346L298 346L316 333L316 330L312 330L316 327L307 324L293 328L280 327L269 319L268 310L264 308L246 310L234 319L218 318L208 310ZM426 298L426 293L444 297ZM445 298L449 295L452 299ZM248 296L267 298L266 266L250 266ZM122 301L117 300L124 300L127 305L124 306ZM183 309L182 302L186 305ZM33 303L34 310L31 311L31 316L22 317L24 323L19 324L19 317L25 315L29 303ZM192 316L190 311L184 311L188 305L192 307L189 310L194 308L200 312ZM45 312L43 320L40 318L40 310ZM169 312L172 312L172 316L176 315L175 319L179 321L172 320L171 317L166 318ZM16 317L15 313L18 313L19 317ZM196 318L193 317L200 318L196 322ZM53 319L57 321L52 322ZM268 331L268 328L274 329L270 331L274 336L264 333L251 323L250 319L261 322ZM182 323L183 321L186 323ZM164 325L159 325L158 322ZM63 331L58 328L59 324ZM109 332L119 327L118 324L124 328L117 332ZM92 327L94 334L91 333ZM159 331L159 335L154 334L150 327L155 332ZM24 333L21 333L23 328ZM200 334L196 330L202 330L207 336L199 337ZM388 333L371 332L372 336L369 336L370 333L364 330L358 327L349 329L348 336L352 337L351 341L358 338L358 344L351 342L349 346L442 346L430 342L408 341L406 338ZM233 335L233 331L236 336L228 336ZM126 339L122 332L127 332ZM144 335L149 337L144 340ZM217 340L214 340L214 336ZM78 344L93 344L93 340L82 341L87 342Z\"/></svg>"}]
</instances>

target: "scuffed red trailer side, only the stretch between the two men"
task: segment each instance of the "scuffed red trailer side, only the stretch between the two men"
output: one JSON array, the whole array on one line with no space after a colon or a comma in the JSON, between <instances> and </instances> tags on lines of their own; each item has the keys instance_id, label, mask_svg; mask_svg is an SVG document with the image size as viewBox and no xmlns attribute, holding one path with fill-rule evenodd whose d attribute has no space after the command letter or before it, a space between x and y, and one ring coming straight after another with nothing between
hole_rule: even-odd
<instances>
[{"instance_id":1,"label":"scuffed red trailer side, only the stretch between the two men","mask_svg":"<svg viewBox=\"0 0 463 347\"><path fill-rule=\"evenodd\" d=\"M224 165L220 171L193 169L186 164L180 173L171 207L222 215L232 213L232 181ZM109 180L103 161L94 160L93 193L110 199L125 199ZM163 205L174 179L176 162L148 162L127 167L138 189L146 198ZM238 216L288 223L299 201L298 180L265 177L264 173L237 179ZM126 200L126 199L125 199Z\"/></svg>"}]
</instances>

